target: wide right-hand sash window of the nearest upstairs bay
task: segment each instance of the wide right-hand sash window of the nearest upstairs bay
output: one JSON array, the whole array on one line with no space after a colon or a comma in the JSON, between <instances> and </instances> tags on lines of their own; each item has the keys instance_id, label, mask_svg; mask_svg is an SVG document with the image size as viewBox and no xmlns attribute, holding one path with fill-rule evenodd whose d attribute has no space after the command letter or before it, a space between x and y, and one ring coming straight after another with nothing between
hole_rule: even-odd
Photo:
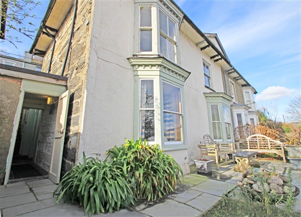
<instances>
[{"instance_id":1,"label":"wide right-hand sash window of the nearest upstairs bay","mask_svg":"<svg viewBox=\"0 0 301 217\"><path fill-rule=\"evenodd\" d=\"M176 61L176 23L160 10L160 53Z\"/></svg>"}]
</instances>

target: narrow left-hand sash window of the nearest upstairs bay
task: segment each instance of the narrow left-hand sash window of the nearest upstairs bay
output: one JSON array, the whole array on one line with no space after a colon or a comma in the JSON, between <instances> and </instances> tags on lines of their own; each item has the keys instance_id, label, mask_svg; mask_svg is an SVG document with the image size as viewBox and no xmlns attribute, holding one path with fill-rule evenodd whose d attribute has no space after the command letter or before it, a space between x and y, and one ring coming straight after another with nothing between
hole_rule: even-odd
<instances>
[{"instance_id":1,"label":"narrow left-hand sash window of the nearest upstairs bay","mask_svg":"<svg viewBox=\"0 0 301 217\"><path fill-rule=\"evenodd\" d=\"M152 51L152 6L140 6L140 21L139 21L139 51L150 52Z\"/></svg>"}]
</instances>

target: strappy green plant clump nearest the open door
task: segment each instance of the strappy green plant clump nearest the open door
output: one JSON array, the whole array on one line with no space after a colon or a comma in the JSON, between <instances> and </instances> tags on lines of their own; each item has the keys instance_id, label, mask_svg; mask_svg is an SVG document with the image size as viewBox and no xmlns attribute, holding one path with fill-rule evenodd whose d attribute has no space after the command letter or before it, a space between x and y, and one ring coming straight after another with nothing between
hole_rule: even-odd
<instances>
[{"instance_id":1,"label":"strappy green plant clump nearest the open door","mask_svg":"<svg viewBox=\"0 0 301 217\"><path fill-rule=\"evenodd\" d=\"M57 202L71 200L84 207L89 215L97 212L119 210L124 204L134 204L133 193L127 183L127 174L115 161L87 158L69 170L53 194Z\"/></svg>"}]
</instances>

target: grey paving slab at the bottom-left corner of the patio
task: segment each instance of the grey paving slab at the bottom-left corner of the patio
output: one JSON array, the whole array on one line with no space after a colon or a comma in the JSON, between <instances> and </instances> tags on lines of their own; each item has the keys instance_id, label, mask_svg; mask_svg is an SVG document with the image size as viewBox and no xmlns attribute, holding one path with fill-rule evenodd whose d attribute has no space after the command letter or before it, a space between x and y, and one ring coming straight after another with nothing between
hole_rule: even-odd
<instances>
[{"instance_id":1,"label":"grey paving slab at the bottom-left corner of the patio","mask_svg":"<svg viewBox=\"0 0 301 217\"><path fill-rule=\"evenodd\" d=\"M3 215L4 216L16 216L20 214L24 214L27 212L35 211L41 208L46 208L47 206L41 202L41 201L36 201L36 202L31 202L23 205L18 205L10 208L5 208L3 209Z\"/></svg>"}]
</instances>

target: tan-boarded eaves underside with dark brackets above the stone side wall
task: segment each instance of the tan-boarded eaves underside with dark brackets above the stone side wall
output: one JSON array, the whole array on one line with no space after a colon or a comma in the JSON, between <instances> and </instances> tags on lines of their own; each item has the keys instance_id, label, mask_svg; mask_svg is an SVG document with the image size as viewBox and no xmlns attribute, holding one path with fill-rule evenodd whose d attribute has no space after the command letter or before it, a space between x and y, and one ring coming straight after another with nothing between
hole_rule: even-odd
<instances>
[{"instance_id":1,"label":"tan-boarded eaves underside with dark brackets above the stone side wall","mask_svg":"<svg viewBox=\"0 0 301 217\"><path fill-rule=\"evenodd\" d=\"M73 4L74 1L72 0L50 0L40 28L30 48L30 53L39 56L45 55Z\"/></svg>"}]
</instances>

